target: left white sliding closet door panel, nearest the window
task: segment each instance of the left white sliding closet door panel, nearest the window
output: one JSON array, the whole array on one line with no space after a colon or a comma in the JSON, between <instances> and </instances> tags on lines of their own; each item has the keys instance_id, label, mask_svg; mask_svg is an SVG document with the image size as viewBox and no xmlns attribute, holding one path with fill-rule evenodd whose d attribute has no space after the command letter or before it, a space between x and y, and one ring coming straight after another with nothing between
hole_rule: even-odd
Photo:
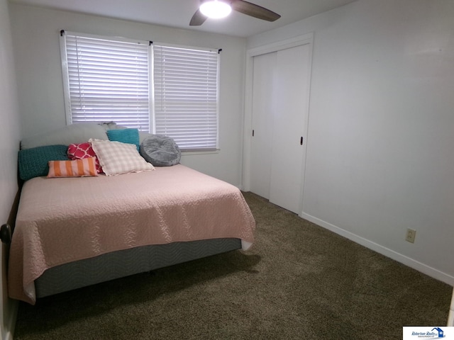
<instances>
[{"instance_id":1,"label":"left white sliding closet door panel, nearest the window","mask_svg":"<svg viewBox=\"0 0 454 340\"><path fill-rule=\"evenodd\" d=\"M273 90L277 53L254 57L253 139L250 152L250 191L270 198Z\"/></svg>"}]
</instances>

